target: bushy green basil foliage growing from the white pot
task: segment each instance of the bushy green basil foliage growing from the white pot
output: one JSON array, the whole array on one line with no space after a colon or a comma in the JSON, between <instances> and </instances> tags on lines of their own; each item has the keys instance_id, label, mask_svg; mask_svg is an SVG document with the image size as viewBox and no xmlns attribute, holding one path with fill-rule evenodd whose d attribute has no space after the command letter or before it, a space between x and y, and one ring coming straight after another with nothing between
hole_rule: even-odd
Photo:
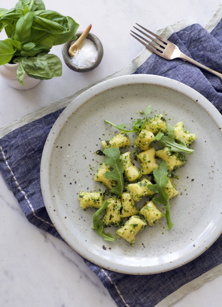
<instances>
[{"instance_id":1,"label":"bushy green basil foliage growing from the white pot","mask_svg":"<svg viewBox=\"0 0 222 307\"><path fill-rule=\"evenodd\" d=\"M42 0L19 0L10 10L0 9L0 32L5 29L8 37L0 41L0 68L15 66L23 87L24 76L37 83L61 76L62 62L50 49L76 39L78 26L71 17L46 10Z\"/></svg>"}]
</instances>

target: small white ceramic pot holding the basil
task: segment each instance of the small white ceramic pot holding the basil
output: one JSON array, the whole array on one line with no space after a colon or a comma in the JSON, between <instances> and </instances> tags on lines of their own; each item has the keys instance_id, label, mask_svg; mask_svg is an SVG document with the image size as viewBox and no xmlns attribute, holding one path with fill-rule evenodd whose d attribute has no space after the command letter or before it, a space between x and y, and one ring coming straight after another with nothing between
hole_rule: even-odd
<instances>
[{"instance_id":1,"label":"small white ceramic pot holding the basil","mask_svg":"<svg viewBox=\"0 0 222 307\"><path fill-rule=\"evenodd\" d=\"M11 87L17 88L18 90L27 90L36 86L41 80L34 79L29 77L26 73L24 76L24 84L25 87L20 84L20 82L16 78L16 72L19 63L16 64L4 64L0 65L0 75L3 77L6 83L8 83Z\"/></svg>"}]
</instances>

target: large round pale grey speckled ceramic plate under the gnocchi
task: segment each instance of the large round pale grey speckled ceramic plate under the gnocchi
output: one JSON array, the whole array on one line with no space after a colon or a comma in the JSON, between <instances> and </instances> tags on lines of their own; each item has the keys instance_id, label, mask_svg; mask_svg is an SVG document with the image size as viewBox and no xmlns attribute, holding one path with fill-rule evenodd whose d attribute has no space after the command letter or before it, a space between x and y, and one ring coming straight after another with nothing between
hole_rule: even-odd
<instances>
[{"instance_id":1,"label":"large round pale grey speckled ceramic plate under the gnocchi","mask_svg":"<svg viewBox=\"0 0 222 307\"><path fill-rule=\"evenodd\" d=\"M92 227L94 209L79 207L79 191L105 190L93 180L103 161L95 152L101 139L115 134L104 119L132 127L139 111L152 104L151 115L197 134L187 164L174 180L178 196L170 200L174 226L166 220L147 226L133 247L124 239L103 241ZM48 214L65 241L80 255L109 270L127 274L154 274L182 266L209 248L222 230L222 117L192 88L151 75L117 77L95 85L63 111L45 143L41 161L41 188ZM133 135L130 135L133 138ZM144 203L144 198L142 202ZM115 234L116 227L105 231Z\"/></svg>"}]
</instances>

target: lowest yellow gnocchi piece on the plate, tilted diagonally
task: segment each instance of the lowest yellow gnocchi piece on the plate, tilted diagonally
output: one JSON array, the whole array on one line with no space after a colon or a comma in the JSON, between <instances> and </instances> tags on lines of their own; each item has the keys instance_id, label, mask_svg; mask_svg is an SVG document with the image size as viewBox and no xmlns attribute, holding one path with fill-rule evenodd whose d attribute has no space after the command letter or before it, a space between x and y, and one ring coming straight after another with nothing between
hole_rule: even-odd
<instances>
[{"instance_id":1,"label":"lowest yellow gnocchi piece on the plate, tilted diagonally","mask_svg":"<svg viewBox=\"0 0 222 307\"><path fill-rule=\"evenodd\" d=\"M136 235L141 232L147 223L139 216L131 216L121 228L117 229L116 234L119 238L125 239L131 246L134 245Z\"/></svg>"}]
</instances>

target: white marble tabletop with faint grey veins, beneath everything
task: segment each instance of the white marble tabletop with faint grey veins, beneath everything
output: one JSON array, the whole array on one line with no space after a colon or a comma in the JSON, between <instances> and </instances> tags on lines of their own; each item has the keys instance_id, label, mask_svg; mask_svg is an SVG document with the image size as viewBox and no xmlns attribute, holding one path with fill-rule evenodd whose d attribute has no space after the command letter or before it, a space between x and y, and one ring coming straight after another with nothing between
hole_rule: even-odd
<instances>
[{"instance_id":1,"label":"white marble tabletop with faint grey veins, beneath everything","mask_svg":"<svg viewBox=\"0 0 222 307\"><path fill-rule=\"evenodd\" d=\"M76 73L63 62L63 75L41 81L27 91L0 79L0 126L85 87L129 64L142 50L131 35L135 22L152 31L192 16L205 26L219 0L45 0L46 7L69 15L84 30L92 24L104 47L101 64L92 72ZM16 2L2 0L1 7ZM73 3L73 4L71 4ZM4 39L4 33L0 39ZM62 59L61 46L52 52ZM12 192L0 177L0 306L107 307L117 306L99 278L66 243L29 223ZM222 276L194 290L175 307L221 306Z\"/></svg>"}]
</instances>

